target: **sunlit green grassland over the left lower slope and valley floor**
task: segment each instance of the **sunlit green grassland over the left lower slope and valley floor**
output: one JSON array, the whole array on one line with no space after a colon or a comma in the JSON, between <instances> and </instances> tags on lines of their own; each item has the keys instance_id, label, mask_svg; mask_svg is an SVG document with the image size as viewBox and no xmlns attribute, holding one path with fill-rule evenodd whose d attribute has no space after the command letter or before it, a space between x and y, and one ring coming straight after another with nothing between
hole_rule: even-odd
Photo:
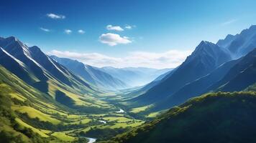
<instances>
[{"instance_id":1,"label":"sunlit green grassland over the left lower slope and valley floor","mask_svg":"<svg viewBox=\"0 0 256 143\"><path fill-rule=\"evenodd\" d=\"M3 133L4 137L13 140L19 136L20 142L78 142L81 133L90 135L99 129L102 132L100 136L96 134L97 138L111 137L144 123L128 112L116 113L119 107L104 100L108 96L114 98L114 93L97 97L90 92L65 90L65 85L58 88L56 81L48 83L49 93L42 93L0 66L0 97L4 98L2 102L6 100L6 104L0 105L0 135ZM75 104L67 107L56 102L56 90L63 92Z\"/></svg>"}]
</instances>

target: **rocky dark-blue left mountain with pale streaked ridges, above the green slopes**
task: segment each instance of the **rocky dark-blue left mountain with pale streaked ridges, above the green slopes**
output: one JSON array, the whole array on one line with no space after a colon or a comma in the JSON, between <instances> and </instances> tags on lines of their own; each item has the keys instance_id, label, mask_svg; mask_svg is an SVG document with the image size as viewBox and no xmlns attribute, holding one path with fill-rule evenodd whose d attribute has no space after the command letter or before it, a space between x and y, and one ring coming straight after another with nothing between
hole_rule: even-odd
<instances>
[{"instance_id":1,"label":"rocky dark-blue left mountain with pale streaked ridges, above the green slopes","mask_svg":"<svg viewBox=\"0 0 256 143\"><path fill-rule=\"evenodd\" d=\"M64 99L69 99L70 104L65 104L69 107L86 106L84 94L101 93L101 89L77 77L37 46L28 47L10 36L0 38L0 48L1 66L62 104L65 104Z\"/></svg>"}]
</instances>

